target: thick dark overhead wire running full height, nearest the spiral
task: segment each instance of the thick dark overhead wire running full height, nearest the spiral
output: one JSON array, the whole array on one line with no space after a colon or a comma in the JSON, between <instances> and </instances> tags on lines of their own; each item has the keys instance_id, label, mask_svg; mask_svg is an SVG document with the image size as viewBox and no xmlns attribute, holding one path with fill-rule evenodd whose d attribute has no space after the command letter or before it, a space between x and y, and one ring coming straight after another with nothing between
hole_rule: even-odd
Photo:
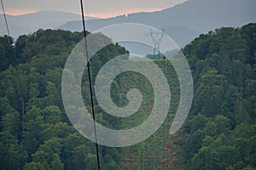
<instances>
[{"instance_id":1,"label":"thick dark overhead wire running full height, nearest the spiral","mask_svg":"<svg viewBox=\"0 0 256 170\"><path fill-rule=\"evenodd\" d=\"M99 156L99 147L97 143L97 133L96 133L96 118L95 118L95 111L94 111L94 102L93 102L93 93L92 93L92 83L91 83L91 77L90 77L90 59L88 54L88 45L86 40L86 25L84 20L84 5L83 0L80 0L81 5L81 13L82 13L82 22L83 22L83 31L84 31L84 48L85 48L85 55L87 59L87 71L88 71L88 78L89 78L89 84L90 84L90 104L91 104L91 111L92 111L92 117L93 117L93 126L94 126L94 133L95 133L95 144L96 144L96 157L97 157L97 167L100 170L100 156Z\"/></svg>"}]
</instances>

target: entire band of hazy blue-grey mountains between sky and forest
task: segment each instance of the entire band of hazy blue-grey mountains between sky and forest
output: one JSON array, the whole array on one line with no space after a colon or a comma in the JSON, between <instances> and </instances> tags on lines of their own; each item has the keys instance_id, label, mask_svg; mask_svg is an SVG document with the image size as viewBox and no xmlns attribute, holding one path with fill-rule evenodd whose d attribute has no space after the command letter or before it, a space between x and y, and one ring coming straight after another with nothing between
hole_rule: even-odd
<instances>
[{"instance_id":1,"label":"entire band of hazy blue-grey mountains between sky and forest","mask_svg":"<svg viewBox=\"0 0 256 170\"><path fill-rule=\"evenodd\" d=\"M152 13L135 13L97 20L86 17L86 24L89 31L119 23L154 26L163 29L180 47L184 47L201 33L223 26L243 26L256 22L255 7L255 0L189 0ZM41 11L35 14L7 15L7 20L10 34L15 38L39 28L82 31L81 16L66 12ZM0 35L4 34L7 31L3 14L0 14Z\"/></svg>"}]
</instances>

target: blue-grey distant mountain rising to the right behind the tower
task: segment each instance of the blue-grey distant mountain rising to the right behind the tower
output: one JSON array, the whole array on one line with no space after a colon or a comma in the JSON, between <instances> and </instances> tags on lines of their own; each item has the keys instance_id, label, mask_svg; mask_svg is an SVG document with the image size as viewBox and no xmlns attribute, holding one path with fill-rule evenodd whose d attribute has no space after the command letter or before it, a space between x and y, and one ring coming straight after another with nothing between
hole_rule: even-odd
<instances>
[{"instance_id":1,"label":"blue-grey distant mountain rising to the right behind the tower","mask_svg":"<svg viewBox=\"0 0 256 170\"><path fill-rule=\"evenodd\" d=\"M172 8L153 13L120 15L114 18L88 20L87 28L95 31L119 23L140 23L164 29L180 47L200 33L223 26L243 26L256 22L255 0L189 0ZM59 28L81 31L79 21L70 21Z\"/></svg>"}]
</instances>

